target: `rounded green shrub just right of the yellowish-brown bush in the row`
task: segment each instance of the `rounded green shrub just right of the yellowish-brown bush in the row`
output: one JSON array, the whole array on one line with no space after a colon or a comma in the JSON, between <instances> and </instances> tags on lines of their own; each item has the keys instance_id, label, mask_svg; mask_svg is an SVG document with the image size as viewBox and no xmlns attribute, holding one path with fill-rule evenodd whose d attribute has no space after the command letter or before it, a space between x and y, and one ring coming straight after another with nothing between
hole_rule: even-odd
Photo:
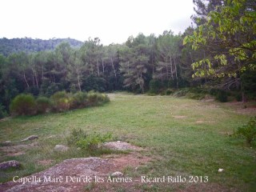
<instances>
[{"instance_id":1,"label":"rounded green shrub just right of the yellowish-brown bush in the row","mask_svg":"<svg viewBox=\"0 0 256 192\"><path fill-rule=\"evenodd\" d=\"M87 94L85 92L78 92L73 94L70 99L70 108L79 109L88 105Z\"/></svg>"}]
</instances>

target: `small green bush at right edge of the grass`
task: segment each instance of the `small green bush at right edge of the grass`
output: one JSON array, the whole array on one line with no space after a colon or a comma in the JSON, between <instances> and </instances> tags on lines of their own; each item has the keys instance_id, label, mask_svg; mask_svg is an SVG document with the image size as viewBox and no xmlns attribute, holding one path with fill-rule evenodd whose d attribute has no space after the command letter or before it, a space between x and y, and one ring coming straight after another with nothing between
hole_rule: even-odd
<instances>
[{"instance_id":1,"label":"small green bush at right edge of the grass","mask_svg":"<svg viewBox=\"0 0 256 192\"><path fill-rule=\"evenodd\" d=\"M234 135L246 138L246 142L251 144L256 138L256 117L251 118L245 126L238 127L238 130L235 131Z\"/></svg>"}]
</instances>

